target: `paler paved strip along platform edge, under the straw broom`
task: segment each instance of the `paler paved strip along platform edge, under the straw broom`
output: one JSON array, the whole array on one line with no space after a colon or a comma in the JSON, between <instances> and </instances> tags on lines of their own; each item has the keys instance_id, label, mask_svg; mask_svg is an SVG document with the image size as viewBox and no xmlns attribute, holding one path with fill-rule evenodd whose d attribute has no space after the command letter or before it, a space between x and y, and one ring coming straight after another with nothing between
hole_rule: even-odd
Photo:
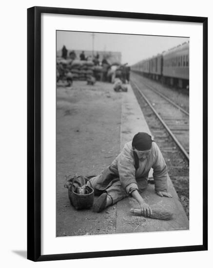
<instances>
[{"instance_id":1,"label":"paler paved strip along platform edge, under the straw broom","mask_svg":"<svg viewBox=\"0 0 213 268\"><path fill-rule=\"evenodd\" d=\"M122 149L123 145L137 132L147 132L152 135L133 90L129 86L128 93L123 94L122 99L120 148ZM149 174L149 177L151 176L152 170ZM142 193L142 197L153 209L173 212L172 220L163 221L132 215L130 209L138 208L138 204L134 198L128 197L117 203L116 233L188 230L188 218L169 177L168 191L172 193L173 198L158 196L155 194L154 185L149 184L146 191Z\"/></svg>"}]
</instances>

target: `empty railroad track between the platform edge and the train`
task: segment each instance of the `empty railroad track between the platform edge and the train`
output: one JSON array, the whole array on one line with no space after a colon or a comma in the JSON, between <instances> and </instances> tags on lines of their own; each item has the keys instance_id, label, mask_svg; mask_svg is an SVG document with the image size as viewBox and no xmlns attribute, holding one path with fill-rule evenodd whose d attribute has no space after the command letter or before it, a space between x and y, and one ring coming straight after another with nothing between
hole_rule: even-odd
<instances>
[{"instance_id":1,"label":"empty railroad track between the platform edge and the train","mask_svg":"<svg viewBox=\"0 0 213 268\"><path fill-rule=\"evenodd\" d=\"M167 96L157 92L152 86L138 82L136 77L131 79L131 83L133 89L142 96L189 163L189 113ZM158 136L159 139L160 136L165 137L159 127L153 128L154 136ZM166 149L164 146L162 149L165 152L175 153L174 146Z\"/></svg>"}]
</instances>

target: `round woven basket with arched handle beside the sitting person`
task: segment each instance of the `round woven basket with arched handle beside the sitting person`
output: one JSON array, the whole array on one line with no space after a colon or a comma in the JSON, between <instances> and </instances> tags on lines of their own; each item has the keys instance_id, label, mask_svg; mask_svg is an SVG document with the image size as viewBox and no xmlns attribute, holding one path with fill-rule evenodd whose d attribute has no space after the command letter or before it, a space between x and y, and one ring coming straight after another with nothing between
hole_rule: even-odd
<instances>
[{"instance_id":1,"label":"round woven basket with arched handle beside the sitting person","mask_svg":"<svg viewBox=\"0 0 213 268\"><path fill-rule=\"evenodd\" d=\"M90 186L87 185L85 188L77 187L74 189L73 184L77 178L84 178L86 182L88 181L90 183ZM83 191L84 193L81 193L81 190L83 189L85 189L85 191ZM71 205L73 205L77 210L89 209L93 206L94 190L90 180L87 177L77 176L74 178L72 184L68 187L68 195Z\"/></svg>"}]
</instances>

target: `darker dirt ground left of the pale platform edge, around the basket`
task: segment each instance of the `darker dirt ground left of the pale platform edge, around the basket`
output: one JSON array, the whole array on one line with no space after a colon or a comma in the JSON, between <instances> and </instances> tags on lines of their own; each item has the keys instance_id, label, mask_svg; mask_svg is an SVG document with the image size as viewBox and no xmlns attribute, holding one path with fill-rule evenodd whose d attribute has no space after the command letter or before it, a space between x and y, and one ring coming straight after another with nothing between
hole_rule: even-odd
<instances>
[{"instance_id":1,"label":"darker dirt ground left of the pale platform edge, around the basket","mask_svg":"<svg viewBox=\"0 0 213 268\"><path fill-rule=\"evenodd\" d=\"M110 83L74 81L57 88L57 236L114 233L116 207L77 211L63 187L65 175L101 172L120 150L121 95Z\"/></svg>"}]
</instances>

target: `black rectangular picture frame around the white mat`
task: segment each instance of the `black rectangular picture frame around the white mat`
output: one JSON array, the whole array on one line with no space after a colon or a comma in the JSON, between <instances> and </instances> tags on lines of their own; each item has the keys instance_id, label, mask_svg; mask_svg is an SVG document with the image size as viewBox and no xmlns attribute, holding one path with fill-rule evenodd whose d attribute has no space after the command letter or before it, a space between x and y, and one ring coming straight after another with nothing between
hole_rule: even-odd
<instances>
[{"instance_id":1,"label":"black rectangular picture frame around the white mat","mask_svg":"<svg viewBox=\"0 0 213 268\"><path fill-rule=\"evenodd\" d=\"M196 22L203 25L203 243L152 249L128 249L41 255L41 14ZM208 249L208 18L174 15L31 7L27 10L27 258L32 261L97 258Z\"/></svg>"}]
</instances>

